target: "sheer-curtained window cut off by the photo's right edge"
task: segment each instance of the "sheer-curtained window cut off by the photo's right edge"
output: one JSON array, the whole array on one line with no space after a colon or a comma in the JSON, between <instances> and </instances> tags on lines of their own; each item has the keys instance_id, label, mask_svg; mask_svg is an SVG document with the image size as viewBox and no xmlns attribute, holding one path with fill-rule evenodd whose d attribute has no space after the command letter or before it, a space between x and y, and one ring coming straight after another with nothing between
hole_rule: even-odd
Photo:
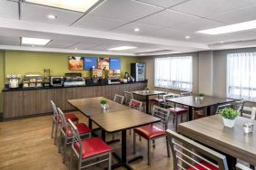
<instances>
[{"instance_id":1,"label":"sheer-curtained window cut off by the photo's right edge","mask_svg":"<svg viewBox=\"0 0 256 170\"><path fill-rule=\"evenodd\" d=\"M227 96L256 101L256 52L228 54Z\"/></svg>"}]
</instances>

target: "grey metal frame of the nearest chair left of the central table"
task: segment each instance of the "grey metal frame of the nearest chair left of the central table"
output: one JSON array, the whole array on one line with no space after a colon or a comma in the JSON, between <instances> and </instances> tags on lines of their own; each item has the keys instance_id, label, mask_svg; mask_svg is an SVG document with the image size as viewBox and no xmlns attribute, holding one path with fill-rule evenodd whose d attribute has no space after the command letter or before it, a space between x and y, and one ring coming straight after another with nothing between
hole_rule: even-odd
<instances>
[{"instance_id":1,"label":"grey metal frame of the nearest chair left of the central table","mask_svg":"<svg viewBox=\"0 0 256 170\"><path fill-rule=\"evenodd\" d=\"M99 163L102 163L102 162L105 162L105 161L108 161L108 170L111 170L111 161L112 161L112 152L106 152L106 153L103 153L103 154L100 154L100 155L97 155L97 156L90 156L90 157L87 157L85 159L82 159L82 151L83 151L83 145L82 145L82 140L81 140L81 137L79 136L79 133L78 133L78 130L77 130L77 127L74 126L74 123L68 119L68 122L71 126L71 129L72 129L72 132L73 132L73 139L72 139L72 150L74 153L71 153L71 156L70 156L70 165L69 165L69 169L71 170L71 166L72 166L72 162L73 162L73 156L77 156L78 158L78 170L84 168L84 167L88 167L88 166L91 166L91 165L96 165L96 164L99 164ZM86 140L86 139L85 139ZM74 148L74 144L75 143L78 143L79 146L80 146L80 152L77 152L76 149ZM84 148L86 149L86 148ZM103 157L103 156L108 156L108 158L106 159L103 159L103 160L98 160L98 158L100 157ZM90 164L90 165L84 165L82 166L82 164L86 161L89 161L89 160L92 160L92 159L97 159L96 162Z\"/></svg>"}]
</instances>

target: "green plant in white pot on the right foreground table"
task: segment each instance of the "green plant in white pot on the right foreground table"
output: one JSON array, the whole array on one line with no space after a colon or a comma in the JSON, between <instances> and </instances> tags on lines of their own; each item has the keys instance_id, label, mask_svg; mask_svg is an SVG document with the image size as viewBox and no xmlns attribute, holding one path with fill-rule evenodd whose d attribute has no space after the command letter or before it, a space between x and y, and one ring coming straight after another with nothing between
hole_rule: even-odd
<instances>
[{"instance_id":1,"label":"green plant in white pot on the right foreground table","mask_svg":"<svg viewBox=\"0 0 256 170\"><path fill-rule=\"evenodd\" d=\"M225 108L221 109L219 112L222 115L224 126L234 127L235 118L238 117L238 111L231 108Z\"/></svg>"}]
</instances>

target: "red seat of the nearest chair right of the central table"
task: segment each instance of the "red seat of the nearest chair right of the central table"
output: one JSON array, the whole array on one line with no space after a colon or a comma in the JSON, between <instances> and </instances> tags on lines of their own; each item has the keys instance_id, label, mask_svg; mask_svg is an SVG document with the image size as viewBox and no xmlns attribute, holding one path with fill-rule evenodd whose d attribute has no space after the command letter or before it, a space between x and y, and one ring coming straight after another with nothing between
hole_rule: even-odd
<instances>
[{"instance_id":1,"label":"red seat of the nearest chair right of the central table","mask_svg":"<svg viewBox=\"0 0 256 170\"><path fill-rule=\"evenodd\" d=\"M154 127L153 125L146 125L143 127L135 127L134 131L145 138L154 138L165 136L166 133L164 130L158 127Z\"/></svg>"}]
</instances>

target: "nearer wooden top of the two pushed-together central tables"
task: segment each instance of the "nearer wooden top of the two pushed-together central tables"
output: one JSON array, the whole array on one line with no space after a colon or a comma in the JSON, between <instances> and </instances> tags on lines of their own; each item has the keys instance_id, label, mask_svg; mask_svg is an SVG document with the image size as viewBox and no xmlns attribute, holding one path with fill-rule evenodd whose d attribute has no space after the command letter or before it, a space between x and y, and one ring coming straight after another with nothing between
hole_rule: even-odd
<instances>
[{"instance_id":1,"label":"nearer wooden top of the two pushed-together central tables","mask_svg":"<svg viewBox=\"0 0 256 170\"><path fill-rule=\"evenodd\" d=\"M92 120L105 131L112 133L123 129L140 127L160 121L160 118L154 118L136 109L127 109L106 112L92 116Z\"/></svg>"}]
</instances>

